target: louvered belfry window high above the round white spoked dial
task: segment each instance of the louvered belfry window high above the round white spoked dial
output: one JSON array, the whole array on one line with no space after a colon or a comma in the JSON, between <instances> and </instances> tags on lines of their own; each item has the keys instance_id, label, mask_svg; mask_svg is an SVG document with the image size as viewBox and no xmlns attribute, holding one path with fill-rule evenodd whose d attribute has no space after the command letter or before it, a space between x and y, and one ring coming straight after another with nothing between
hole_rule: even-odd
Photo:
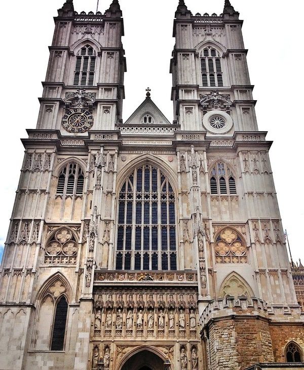
<instances>
[{"instance_id":1,"label":"louvered belfry window high above the round white spoked dial","mask_svg":"<svg viewBox=\"0 0 304 370\"><path fill-rule=\"evenodd\" d=\"M201 54L203 87L222 87L223 75L221 57L216 49L205 48Z\"/></svg>"}]
</instances>

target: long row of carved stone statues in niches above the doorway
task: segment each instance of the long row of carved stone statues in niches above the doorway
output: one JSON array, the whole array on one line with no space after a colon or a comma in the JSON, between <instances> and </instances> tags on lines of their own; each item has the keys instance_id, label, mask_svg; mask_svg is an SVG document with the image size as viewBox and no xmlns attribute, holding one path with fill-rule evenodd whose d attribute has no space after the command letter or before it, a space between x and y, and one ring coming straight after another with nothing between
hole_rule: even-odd
<instances>
[{"instance_id":1,"label":"long row of carved stone statues in niches above the doorway","mask_svg":"<svg viewBox=\"0 0 304 370\"><path fill-rule=\"evenodd\" d=\"M117 330L122 330L123 328L123 312L121 309L118 309L116 314L113 314L111 310L107 311L105 316L105 329L111 330L112 326L115 325ZM125 321L126 321L126 330L133 330L134 325L136 325L137 330L143 330L144 325L144 313L143 310L138 310L135 313L132 309L128 310ZM175 320L176 326L178 326L179 330L185 330L186 318L184 310L180 309L178 315L175 316L174 311L168 312L168 327L169 330L175 329ZM95 314L95 330L101 329L101 311L97 310ZM157 326L158 330L164 330L166 323L166 314L165 312L160 309L158 312L154 310L149 310L146 315L146 325L148 330L154 330L155 326ZM196 314L194 310L190 310L189 312L189 327L190 330L196 330Z\"/></svg>"}]
</instances>

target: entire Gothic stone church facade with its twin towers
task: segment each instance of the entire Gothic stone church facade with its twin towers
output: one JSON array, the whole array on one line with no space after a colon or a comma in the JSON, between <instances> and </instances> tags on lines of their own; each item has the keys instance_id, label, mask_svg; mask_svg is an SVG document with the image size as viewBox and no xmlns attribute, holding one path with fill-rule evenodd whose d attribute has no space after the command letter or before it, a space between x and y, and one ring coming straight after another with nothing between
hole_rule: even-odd
<instances>
[{"instance_id":1,"label":"entire Gothic stone church facade with its twin towers","mask_svg":"<svg viewBox=\"0 0 304 370\"><path fill-rule=\"evenodd\" d=\"M219 16L180 0L174 120L147 89L123 122L118 0L104 14L58 10L1 265L1 370L303 359L241 27L229 0Z\"/></svg>"}]
</instances>

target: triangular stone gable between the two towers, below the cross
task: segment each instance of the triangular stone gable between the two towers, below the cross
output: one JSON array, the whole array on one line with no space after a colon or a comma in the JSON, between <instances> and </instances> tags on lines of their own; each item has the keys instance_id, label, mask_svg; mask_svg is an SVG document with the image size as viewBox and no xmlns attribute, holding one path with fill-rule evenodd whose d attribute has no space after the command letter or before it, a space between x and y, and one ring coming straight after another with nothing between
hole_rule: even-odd
<instances>
[{"instance_id":1,"label":"triangular stone gable between the two towers, below the cross","mask_svg":"<svg viewBox=\"0 0 304 370\"><path fill-rule=\"evenodd\" d=\"M125 125L172 125L157 105L146 97L126 120Z\"/></svg>"}]
</instances>

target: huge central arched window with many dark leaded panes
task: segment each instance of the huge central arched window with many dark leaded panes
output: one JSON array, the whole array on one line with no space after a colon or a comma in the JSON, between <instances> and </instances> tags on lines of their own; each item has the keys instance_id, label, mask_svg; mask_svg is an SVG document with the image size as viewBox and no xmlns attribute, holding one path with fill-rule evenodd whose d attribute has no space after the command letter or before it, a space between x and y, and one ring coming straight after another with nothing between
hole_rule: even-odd
<instances>
[{"instance_id":1,"label":"huge central arched window with many dark leaded panes","mask_svg":"<svg viewBox=\"0 0 304 370\"><path fill-rule=\"evenodd\" d=\"M173 189L162 172L136 169L119 194L117 270L176 270Z\"/></svg>"}]
</instances>

